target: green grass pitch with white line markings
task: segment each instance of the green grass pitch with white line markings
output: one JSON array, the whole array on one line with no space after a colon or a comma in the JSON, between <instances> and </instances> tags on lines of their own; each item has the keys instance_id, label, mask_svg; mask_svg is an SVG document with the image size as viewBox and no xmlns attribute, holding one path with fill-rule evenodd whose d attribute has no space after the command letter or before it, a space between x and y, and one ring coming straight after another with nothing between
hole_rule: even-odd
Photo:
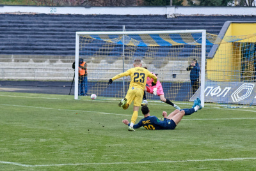
<instances>
[{"instance_id":1,"label":"green grass pitch with white line markings","mask_svg":"<svg viewBox=\"0 0 256 171\"><path fill-rule=\"evenodd\" d=\"M253 170L255 108L207 106L175 130L127 131L118 101L0 93L0 170ZM182 108L192 103L180 104ZM174 108L150 103L150 114ZM137 122L142 118L139 112ZM239 119L241 118L241 119ZM249 119L250 118L250 119ZM13 163L7 163L13 162Z\"/></svg>"}]
</instances>

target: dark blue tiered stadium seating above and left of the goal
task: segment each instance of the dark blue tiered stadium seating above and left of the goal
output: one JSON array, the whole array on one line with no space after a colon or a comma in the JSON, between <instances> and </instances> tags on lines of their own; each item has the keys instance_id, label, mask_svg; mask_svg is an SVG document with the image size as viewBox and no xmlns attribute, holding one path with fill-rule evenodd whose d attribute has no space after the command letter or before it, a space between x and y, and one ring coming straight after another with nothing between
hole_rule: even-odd
<instances>
[{"instance_id":1,"label":"dark blue tiered stadium seating above and left of the goal","mask_svg":"<svg viewBox=\"0 0 256 171\"><path fill-rule=\"evenodd\" d=\"M218 34L227 20L253 21L255 16L165 15L14 15L0 14L0 67L70 68L76 31L154 31L206 29ZM186 56L186 55L184 55ZM47 65L51 64L51 65ZM1 75L0 75L1 77ZM72 79L72 74L70 74Z\"/></svg>"}]
</instances>

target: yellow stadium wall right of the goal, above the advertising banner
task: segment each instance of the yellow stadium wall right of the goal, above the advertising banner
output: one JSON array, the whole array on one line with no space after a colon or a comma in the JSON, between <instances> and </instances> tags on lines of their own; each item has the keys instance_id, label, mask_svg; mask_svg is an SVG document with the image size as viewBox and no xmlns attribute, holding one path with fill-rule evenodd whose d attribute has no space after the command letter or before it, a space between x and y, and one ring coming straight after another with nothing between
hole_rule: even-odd
<instances>
[{"instance_id":1,"label":"yellow stadium wall right of the goal, above the advertising banner","mask_svg":"<svg viewBox=\"0 0 256 171\"><path fill-rule=\"evenodd\" d=\"M246 42L253 42L255 40L250 39L250 35L256 34L256 22L225 22L223 29L221 29L219 36L245 36L248 35ZM228 38L228 37L227 37ZM225 41L225 40L222 40ZM242 41L243 42L243 41ZM217 49L216 52L210 52L214 54L212 58L207 59L207 78L214 81L225 82L227 80L239 80L241 76L241 41L236 43L225 43L223 42ZM233 49L233 50L232 50ZM225 54L223 58L223 52L230 51L231 54ZM216 63L227 63L231 61L230 65L216 66ZM236 72L235 72L236 71ZM225 72L226 74L221 74Z\"/></svg>"}]
</instances>

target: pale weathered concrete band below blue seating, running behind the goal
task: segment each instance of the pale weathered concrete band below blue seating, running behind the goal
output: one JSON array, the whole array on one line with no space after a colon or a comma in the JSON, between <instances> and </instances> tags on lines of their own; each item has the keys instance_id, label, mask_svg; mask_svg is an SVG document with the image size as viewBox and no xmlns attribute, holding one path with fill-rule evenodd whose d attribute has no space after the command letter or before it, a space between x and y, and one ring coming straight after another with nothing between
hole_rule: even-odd
<instances>
[{"instance_id":1,"label":"pale weathered concrete band below blue seating, running behind the goal","mask_svg":"<svg viewBox=\"0 0 256 171\"><path fill-rule=\"evenodd\" d=\"M19 66L17 66L19 64ZM99 62L88 60L88 80L108 80L118 73L122 73L122 61L115 60L108 63L106 60ZM159 80L184 82L189 80L188 61L168 61L161 69L157 69L154 64L143 62L148 70L158 73ZM0 62L0 78L3 80L72 80L74 69L72 63L17 63L15 61ZM125 70L132 68L131 63L125 64ZM173 77L175 75L175 77ZM129 80L125 77L125 80ZM121 80L121 79L119 79Z\"/></svg>"}]
</instances>

